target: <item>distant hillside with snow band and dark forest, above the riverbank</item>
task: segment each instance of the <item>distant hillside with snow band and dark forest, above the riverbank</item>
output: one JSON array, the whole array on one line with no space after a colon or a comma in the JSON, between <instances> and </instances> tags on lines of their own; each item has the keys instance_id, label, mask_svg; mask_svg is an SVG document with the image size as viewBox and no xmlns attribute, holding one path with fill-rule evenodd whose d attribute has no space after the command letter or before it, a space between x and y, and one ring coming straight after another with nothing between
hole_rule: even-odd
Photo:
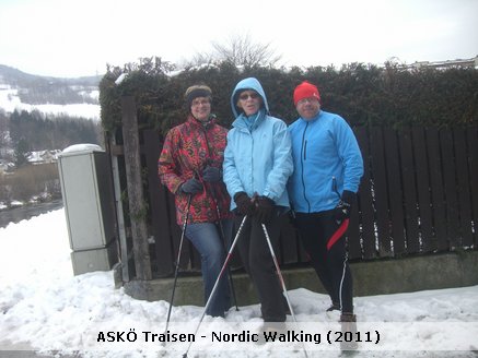
<instances>
[{"instance_id":1,"label":"distant hillside with snow band and dark forest, above the riverbank","mask_svg":"<svg viewBox=\"0 0 478 358\"><path fill-rule=\"evenodd\" d=\"M0 64L0 159L97 143L100 80L39 76Z\"/></svg>"}]
</instances>

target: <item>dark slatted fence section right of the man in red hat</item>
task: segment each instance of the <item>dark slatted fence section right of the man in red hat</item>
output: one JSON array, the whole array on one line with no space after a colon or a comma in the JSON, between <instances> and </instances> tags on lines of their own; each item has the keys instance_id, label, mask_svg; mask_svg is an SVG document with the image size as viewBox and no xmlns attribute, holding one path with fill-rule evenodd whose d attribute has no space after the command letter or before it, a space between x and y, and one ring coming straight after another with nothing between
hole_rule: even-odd
<instances>
[{"instance_id":1,"label":"dark slatted fence section right of the man in red hat","mask_svg":"<svg viewBox=\"0 0 478 358\"><path fill-rule=\"evenodd\" d=\"M351 258L476 248L477 129L358 128L365 174Z\"/></svg>"}]
</instances>

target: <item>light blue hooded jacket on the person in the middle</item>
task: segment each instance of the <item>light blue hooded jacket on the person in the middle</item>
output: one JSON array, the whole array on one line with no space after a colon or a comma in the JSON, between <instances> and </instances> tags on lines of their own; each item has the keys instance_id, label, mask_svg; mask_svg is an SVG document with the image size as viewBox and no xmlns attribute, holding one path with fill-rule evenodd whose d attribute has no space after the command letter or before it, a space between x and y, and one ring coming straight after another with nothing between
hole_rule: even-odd
<instances>
[{"instance_id":1,"label":"light blue hooded jacket on the person in the middle","mask_svg":"<svg viewBox=\"0 0 478 358\"><path fill-rule=\"evenodd\" d=\"M253 116L240 114L236 107L241 92L253 90L263 98L260 110ZM236 117L228 133L223 180L231 198L240 191L253 196L265 195L277 205L289 207L285 186L293 171L290 134L285 122L269 116L269 105L259 81L242 80L231 95ZM231 210L236 207L231 201Z\"/></svg>"}]
</instances>

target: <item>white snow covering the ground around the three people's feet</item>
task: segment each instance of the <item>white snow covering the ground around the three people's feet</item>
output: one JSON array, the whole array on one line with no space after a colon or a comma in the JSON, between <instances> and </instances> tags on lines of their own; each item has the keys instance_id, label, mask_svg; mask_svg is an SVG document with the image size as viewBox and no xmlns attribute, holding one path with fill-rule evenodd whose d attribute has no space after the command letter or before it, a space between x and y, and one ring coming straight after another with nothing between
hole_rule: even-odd
<instances>
[{"instance_id":1,"label":"white snow covering the ground around the three people's feet","mask_svg":"<svg viewBox=\"0 0 478 358\"><path fill-rule=\"evenodd\" d=\"M289 317L288 329L299 338L230 342L233 333L250 341L259 332L253 305L231 309L225 319L206 317L194 342L163 345L166 301L132 299L115 289L112 272L73 276L63 208L0 228L0 357L25 345L53 357L348 356L327 343L329 332L333 338L340 332L337 317L324 313L327 297L303 288L289 296L299 324ZM478 286L354 302L362 342L353 357L478 356ZM201 314L201 307L174 307L170 337L190 337Z\"/></svg>"}]
</instances>

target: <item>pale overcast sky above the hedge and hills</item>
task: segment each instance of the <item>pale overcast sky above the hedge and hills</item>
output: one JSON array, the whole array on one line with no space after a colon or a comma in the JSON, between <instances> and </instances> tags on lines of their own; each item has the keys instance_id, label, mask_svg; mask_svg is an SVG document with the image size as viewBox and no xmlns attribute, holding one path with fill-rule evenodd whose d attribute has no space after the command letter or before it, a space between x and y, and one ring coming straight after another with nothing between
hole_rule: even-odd
<instances>
[{"instance_id":1,"label":"pale overcast sky above the hedge and hills","mask_svg":"<svg viewBox=\"0 0 478 358\"><path fill-rule=\"evenodd\" d=\"M467 59L478 0L0 0L0 63L40 75L179 63L246 34L284 65Z\"/></svg>"}]
</instances>

